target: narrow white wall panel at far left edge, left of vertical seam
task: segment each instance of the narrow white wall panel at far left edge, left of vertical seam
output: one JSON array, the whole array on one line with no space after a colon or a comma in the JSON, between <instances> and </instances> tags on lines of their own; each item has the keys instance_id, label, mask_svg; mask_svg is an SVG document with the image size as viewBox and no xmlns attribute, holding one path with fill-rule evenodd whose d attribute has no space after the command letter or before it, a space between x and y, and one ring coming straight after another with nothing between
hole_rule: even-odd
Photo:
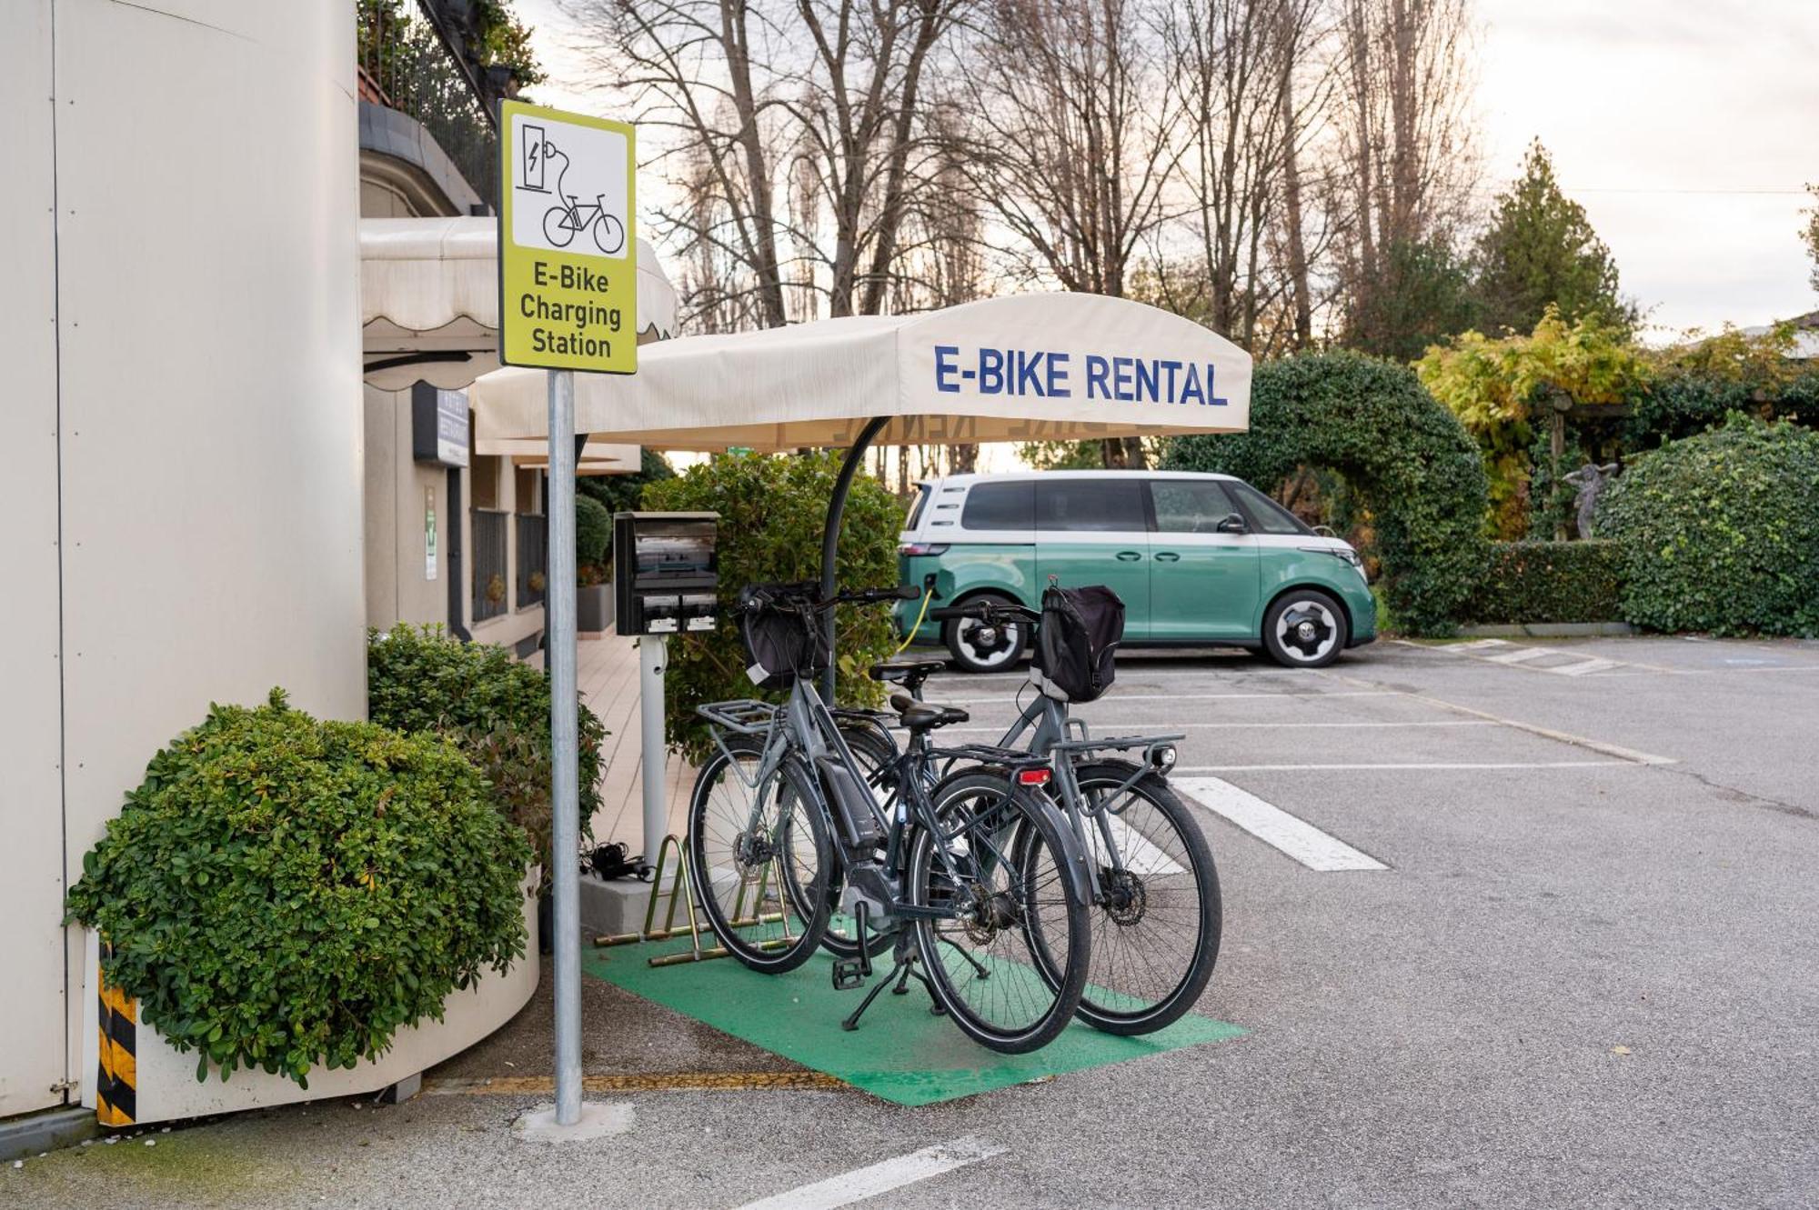
<instances>
[{"instance_id":1,"label":"narrow white wall panel at far left edge, left of vertical seam","mask_svg":"<svg viewBox=\"0 0 1819 1210\"><path fill-rule=\"evenodd\" d=\"M56 1105L65 1072L56 570L56 249L51 0L5 7L0 71L0 1117Z\"/></svg>"}]
</instances>

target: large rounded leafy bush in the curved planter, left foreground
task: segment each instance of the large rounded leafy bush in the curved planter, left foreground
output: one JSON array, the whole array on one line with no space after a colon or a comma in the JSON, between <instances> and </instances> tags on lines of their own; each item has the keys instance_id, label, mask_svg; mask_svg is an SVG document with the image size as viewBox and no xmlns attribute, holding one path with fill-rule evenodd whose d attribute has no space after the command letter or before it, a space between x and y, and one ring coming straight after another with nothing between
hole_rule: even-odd
<instances>
[{"instance_id":1,"label":"large rounded leafy bush in the curved planter, left foreground","mask_svg":"<svg viewBox=\"0 0 1819 1210\"><path fill-rule=\"evenodd\" d=\"M73 919L107 981L226 1079L380 1056L484 967L524 956L531 848L435 736L209 707L82 859Z\"/></svg>"}]
</instances>

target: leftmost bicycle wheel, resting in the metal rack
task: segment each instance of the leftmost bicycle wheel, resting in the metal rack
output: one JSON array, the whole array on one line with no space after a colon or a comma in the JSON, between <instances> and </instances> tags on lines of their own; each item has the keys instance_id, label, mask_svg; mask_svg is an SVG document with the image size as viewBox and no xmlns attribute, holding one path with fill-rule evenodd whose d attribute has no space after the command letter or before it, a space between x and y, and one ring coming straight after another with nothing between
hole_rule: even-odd
<instances>
[{"instance_id":1,"label":"leftmost bicycle wheel, resting in the metal rack","mask_svg":"<svg viewBox=\"0 0 1819 1210\"><path fill-rule=\"evenodd\" d=\"M733 741L695 778L689 881L720 945L746 967L795 970L828 930L833 852L808 770L769 772L757 743ZM762 776L760 776L762 774Z\"/></svg>"}]
</instances>

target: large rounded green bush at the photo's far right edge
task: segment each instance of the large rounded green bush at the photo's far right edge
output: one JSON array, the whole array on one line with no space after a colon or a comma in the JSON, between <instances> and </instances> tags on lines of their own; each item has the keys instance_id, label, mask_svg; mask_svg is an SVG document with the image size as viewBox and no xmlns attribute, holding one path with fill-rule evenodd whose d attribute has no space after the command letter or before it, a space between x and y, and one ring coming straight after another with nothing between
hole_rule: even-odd
<instances>
[{"instance_id":1,"label":"large rounded green bush at the photo's far right edge","mask_svg":"<svg viewBox=\"0 0 1819 1210\"><path fill-rule=\"evenodd\" d=\"M1734 414L1668 441L1604 491L1597 531L1639 627L1819 634L1819 432Z\"/></svg>"}]
</instances>

